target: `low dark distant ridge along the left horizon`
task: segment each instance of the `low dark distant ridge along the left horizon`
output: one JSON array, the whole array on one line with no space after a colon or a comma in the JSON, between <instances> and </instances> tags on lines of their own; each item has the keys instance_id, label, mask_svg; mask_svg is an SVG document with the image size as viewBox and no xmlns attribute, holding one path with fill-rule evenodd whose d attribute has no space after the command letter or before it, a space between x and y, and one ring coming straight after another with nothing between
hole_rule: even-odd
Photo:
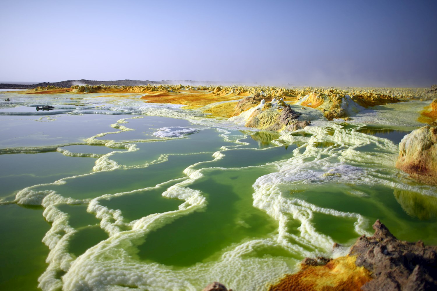
<instances>
[{"instance_id":1,"label":"low dark distant ridge along the left horizon","mask_svg":"<svg viewBox=\"0 0 437 291\"><path fill-rule=\"evenodd\" d=\"M21 82L24 83L24 82ZM116 80L116 81L94 81L94 80L67 80L61 82L40 82L38 84L5 84L0 83L0 89L33 89L36 87L46 87L55 86L62 88L69 88L73 85L101 85L106 86L116 85L116 86L146 86L150 85L161 85L161 84L183 84L183 85L233 85L239 82L219 82L219 81L193 81L193 80L162 80L162 81L141 81L141 80Z\"/></svg>"}]
</instances>

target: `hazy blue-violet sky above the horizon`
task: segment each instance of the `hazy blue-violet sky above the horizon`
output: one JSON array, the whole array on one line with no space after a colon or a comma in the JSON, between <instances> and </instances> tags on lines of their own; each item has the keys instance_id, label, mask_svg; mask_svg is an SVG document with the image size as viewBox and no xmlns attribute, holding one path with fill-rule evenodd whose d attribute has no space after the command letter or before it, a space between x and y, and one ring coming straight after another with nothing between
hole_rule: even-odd
<instances>
[{"instance_id":1,"label":"hazy blue-violet sky above the horizon","mask_svg":"<svg viewBox=\"0 0 437 291\"><path fill-rule=\"evenodd\" d=\"M3 0L0 81L437 84L437 1Z\"/></svg>"}]
</instances>

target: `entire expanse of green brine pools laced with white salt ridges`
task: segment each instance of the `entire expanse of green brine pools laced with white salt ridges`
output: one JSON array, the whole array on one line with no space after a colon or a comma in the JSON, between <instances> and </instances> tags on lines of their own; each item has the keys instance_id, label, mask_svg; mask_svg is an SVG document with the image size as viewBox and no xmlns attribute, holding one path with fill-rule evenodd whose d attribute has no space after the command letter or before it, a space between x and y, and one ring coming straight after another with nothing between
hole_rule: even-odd
<instances>
[{"instance_id":1,"label":"entire expanse of green brine pools laced with white salt ridges","mask_svg":"<svg viewBox=\"0 0 437 291\"><path fill-rule=\"evenodd\" d=\"M278 134L138 94L6 96L1 290L266 290L376 219L437 244L437 188L394 167L417 123Z\"/></svg>"}]
</instances>

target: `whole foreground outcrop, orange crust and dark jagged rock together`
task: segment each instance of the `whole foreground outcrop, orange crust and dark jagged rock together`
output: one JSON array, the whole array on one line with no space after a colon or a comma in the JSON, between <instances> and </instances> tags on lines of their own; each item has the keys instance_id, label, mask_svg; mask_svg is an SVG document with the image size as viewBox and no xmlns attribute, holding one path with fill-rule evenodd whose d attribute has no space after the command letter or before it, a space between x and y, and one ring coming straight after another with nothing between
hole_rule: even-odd
<instances>
[{"instance_id":1,"label":"whole foreground outcrop, orange crust and dark jagged rock together","mask_svg":"<svg viewBox=\"0 0 437 291\"><path fill-rule=\"evenodd\" d=\"M375 234L358 238L347 256L307 258L301 271L287 275L269 291L437 289L437 246L398 240L379 220L373 229Z\"/></svg>"}]
</instances>

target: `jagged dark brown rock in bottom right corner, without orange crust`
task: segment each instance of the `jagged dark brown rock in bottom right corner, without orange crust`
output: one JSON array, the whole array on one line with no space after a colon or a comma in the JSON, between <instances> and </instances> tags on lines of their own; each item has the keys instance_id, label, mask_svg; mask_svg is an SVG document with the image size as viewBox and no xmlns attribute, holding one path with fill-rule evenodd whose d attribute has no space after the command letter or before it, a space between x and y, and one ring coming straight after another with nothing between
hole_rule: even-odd
<instances>
[{"instance_id":1,"label":"jagged dark brown rock in bottom right corner, without orange crust","mask_svg":"<svg viewBox=\"0 0 437 291\"><path fill-rule=\"evenodd\" d=\"M398 240L379 219L373 229L375 234L361 236L349 253L373 277L361 290L437 290L437 246Z\"/></svg>"}]
</instances>

